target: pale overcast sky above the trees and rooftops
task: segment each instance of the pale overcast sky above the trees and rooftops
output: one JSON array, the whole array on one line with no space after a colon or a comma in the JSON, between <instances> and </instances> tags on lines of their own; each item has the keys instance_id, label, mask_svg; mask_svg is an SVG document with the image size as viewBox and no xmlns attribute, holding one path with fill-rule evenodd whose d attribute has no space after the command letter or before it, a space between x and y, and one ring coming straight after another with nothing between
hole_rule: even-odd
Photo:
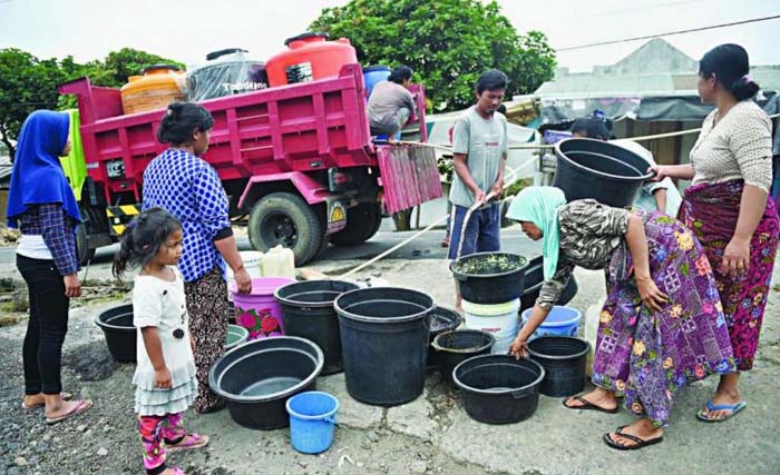
<instances>
[{"instance_id":1,"label":"pale overcast sky above the trees and rooftops","mask_svg":"<svg viewBox=\"0 0 780 475\"><path fill-rule=\"evenodd\" d=\"M347 0L0 0L0 49L38 58L103 59L125 47L187 65L241 47L265 59L306 30L322 8ZM555 49L780 14L778 0L499 0L518 32L539 30ZM780 19L665 37L694 59L724 42L752 65L780 65ZM612 65L645 41L559 51L558 65Z\"/></svg>"}]
</instances>

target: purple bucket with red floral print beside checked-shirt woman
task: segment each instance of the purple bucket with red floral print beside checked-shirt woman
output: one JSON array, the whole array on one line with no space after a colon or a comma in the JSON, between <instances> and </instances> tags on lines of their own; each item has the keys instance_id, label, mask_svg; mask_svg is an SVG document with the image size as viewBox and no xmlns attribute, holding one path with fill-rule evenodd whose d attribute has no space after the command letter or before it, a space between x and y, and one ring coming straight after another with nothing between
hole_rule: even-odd
<instances>
[{"instance_id":1,"label":"purple bucket with red floral print beside checked-shirt woman","mask_svg":"<svg viewBox=\"0 0 780 475\"><path fill-rule=\"evenodd\" d=\"M284 277L256 277L252 279L252 294L238 294L237 286L231 285L235 321L250 331L248 340L284 335L282 307L273 295L293 281Z\"/></svg>"}]
</instances>

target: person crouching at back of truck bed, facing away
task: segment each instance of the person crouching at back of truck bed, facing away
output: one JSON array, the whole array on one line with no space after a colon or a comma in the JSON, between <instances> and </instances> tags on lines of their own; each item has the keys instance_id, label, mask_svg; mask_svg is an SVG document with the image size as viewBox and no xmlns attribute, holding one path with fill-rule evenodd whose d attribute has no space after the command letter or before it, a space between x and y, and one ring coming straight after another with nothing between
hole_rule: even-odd
<instances>
[{"instance_id":1,"label":"person crouching at back of truck bed, facing away","mask_svg":"<svg viewBox=\"0 0 780 475\"><path fill-rule=\"evenodd\" d=\"M392 138L415 111L415 97L409 92L412 70L400 65L387 81L378 82L369 97L368 111L371 135Z\"/></svg>"}]
</instances>

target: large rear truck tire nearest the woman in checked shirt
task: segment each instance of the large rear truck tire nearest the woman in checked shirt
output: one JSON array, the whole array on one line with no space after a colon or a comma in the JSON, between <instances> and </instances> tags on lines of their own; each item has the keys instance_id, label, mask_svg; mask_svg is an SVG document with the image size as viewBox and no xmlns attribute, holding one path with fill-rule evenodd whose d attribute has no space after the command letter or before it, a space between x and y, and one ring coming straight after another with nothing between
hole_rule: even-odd
<instances>
[{"instance_id":1,"label":"large rear truck tire nearest the woman in checked shirt","mask_svg":"<svg viewBox=\"0 0 780 475\"><path fill-rule=\"evenodd\" d=\"M256 250L267 251L280 244L292 249L295 265L300 266L318 254L324 230L316 211L303 198L274 192L252 207L248 235Z\"/></svg>"}]
</instances>

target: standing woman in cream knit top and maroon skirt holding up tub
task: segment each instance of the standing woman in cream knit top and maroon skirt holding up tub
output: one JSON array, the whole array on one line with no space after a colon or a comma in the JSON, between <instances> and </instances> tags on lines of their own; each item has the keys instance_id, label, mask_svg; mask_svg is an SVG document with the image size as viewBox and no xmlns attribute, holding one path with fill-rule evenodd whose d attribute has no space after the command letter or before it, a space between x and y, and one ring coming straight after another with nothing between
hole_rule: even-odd
<instances>
[{"instance_id":1,"label":"standing woman in cream knit top and maroon skirt holding up tub","mask_svg":"<svg viewBox=\"0 0 780 475\"><path fill-rule=\"evenodd\" d=\"M714 102L691 149L691 164L655 167L657 179L692 180L680 219L693 230L714 269L737 369L753 367L778 248L771 121L751 98L748 53L721 44L699 65L699 96ZM698 417L721 422L742 410L740 373L723 375Z\"/></svg>"}]
</instances>

